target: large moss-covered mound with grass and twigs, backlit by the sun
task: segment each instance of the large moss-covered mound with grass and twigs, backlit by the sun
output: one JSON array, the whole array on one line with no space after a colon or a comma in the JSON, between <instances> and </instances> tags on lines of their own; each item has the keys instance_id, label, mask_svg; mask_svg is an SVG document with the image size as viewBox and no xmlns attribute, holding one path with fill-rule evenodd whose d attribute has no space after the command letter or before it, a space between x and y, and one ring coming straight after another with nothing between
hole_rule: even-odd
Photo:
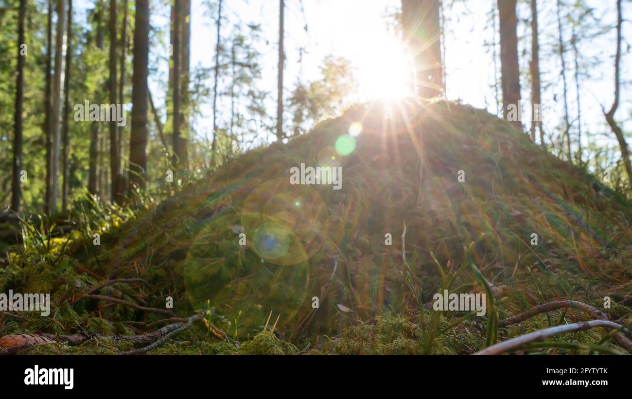
<instances>
[{"instance_id":1,"label":"large moss-covered mound with grass and twigs, backlit by the sun","mask_svg":"<svg viewBox=\"0 0 632 399\"><path fill-rule=\"evenodd\" d=\"M354 122L362 133L352 140ZM342 167L341 189L289 184L300 164ZM496 319L573 299L623 321L632 309L630 220L623 196L487 112L448 102L356 107L135 211L100 246L76 239L57 270L46 261L3 265L5 291L48 289L59 303L54 318L6 319L4 334L150 331L159 324L148 323L168 316L80 299L102 280L142 278L147 285L116 283L100 294L160 309L173 297L183 318L209 307L213 332L226 333L221 341L197 323L150 353L470 354L489 339L588 316L559 309L499 326L495 313L433 317L427 306L420 314L446 278L460 270L454 292L481 292L489 282ZM281 340L257 335L266 325ZM604 335L566 333L556 341L578 344L532 350L585 352L582 344Z\"/></svg>"}]
</instances>

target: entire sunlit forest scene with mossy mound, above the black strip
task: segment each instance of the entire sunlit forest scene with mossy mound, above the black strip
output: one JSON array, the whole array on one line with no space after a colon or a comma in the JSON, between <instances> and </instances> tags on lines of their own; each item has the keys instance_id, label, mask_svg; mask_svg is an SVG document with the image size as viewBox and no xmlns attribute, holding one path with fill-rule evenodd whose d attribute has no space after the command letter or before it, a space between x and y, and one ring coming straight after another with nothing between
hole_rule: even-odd
<instances>
[{"instance_id":1,"label":"entire sunlit forest scene with mossy mound, above the black strip","mask_svg":"<svg viewBox=\"0 0 632 399\"><path fill-rule=\"evenodd\" d=\"M0 355L632 354L631 19L0 0Z\"/></svg>"}]
</instances>

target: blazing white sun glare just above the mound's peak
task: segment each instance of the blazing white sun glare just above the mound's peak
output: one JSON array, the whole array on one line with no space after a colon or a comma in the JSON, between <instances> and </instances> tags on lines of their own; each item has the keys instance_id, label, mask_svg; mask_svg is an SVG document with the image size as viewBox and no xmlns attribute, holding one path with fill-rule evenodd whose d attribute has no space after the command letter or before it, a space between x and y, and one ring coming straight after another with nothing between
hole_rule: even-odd
<instances>
[{"instance_id":1,"label":"blazing white sun glare just above the mound's peak","mask_svg":"<svg viewBox=\"0 0 632 399\"><path fill-rule=\"evenodd\" d=\"M358 94L367 100L398 100L411 95L411 63L403 44L384 34L367 44L358 65Z\"/></svg>"}]
</instances>

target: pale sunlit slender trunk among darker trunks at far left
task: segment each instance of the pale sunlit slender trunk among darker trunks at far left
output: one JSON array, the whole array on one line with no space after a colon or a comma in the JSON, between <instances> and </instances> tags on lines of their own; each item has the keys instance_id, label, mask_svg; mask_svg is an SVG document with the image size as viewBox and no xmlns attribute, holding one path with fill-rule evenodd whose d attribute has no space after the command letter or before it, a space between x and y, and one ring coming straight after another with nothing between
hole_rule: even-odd
<instances>
[{"instance_id":1,"label":"pale sunlit slender trunk among darker trunks at far left","mask_svg":"<svg viewBox=\"0 0 632 399\"><path fill-rule=\"evenodd\" d=\"M52 86L52 124L53 124L53 145L52 145L52 196L51 213L57 208L57 195L59 188L59 148L61 141L61 129L59 117L61 116L61 74L63 73L63 43L64 30L66 27L66 2L57 1L57 31L55 36L55 77Z\"/></svg>"}]
</instances>

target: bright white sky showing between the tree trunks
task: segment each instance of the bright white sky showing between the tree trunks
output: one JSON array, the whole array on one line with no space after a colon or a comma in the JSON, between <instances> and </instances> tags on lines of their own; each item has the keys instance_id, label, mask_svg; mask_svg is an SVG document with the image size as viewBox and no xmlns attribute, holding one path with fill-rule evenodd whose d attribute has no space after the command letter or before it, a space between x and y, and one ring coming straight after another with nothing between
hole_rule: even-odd
<instances>
[{"instance_id":1,"label":"bright white sky showing between the tree trunks","mask_svg":"<svg viewBox=\"0 0 632 399\"><path fill-rule=\"evenodd\" d=\"M209 14L206 0L192 0L191 15L191 67L197 65L211 67L214 65L214 47L216 26L214 15ZM444 4L448 3L444 1ZM465 104L488 109L495 113L494 89L494 59L492 48L486 43L497 40L497 32L488 23L489 13L495 6L495 1L468 0L456 1L453 6L446 7L446 83L447 97L450 100L461 100ZM588 4L595 6L596 14L600 16L600 23L612 25L616 21L613 4L604 5L602 0L588 0ZM552 82L543 87L543 105L549 105L554 111L544 115L549 131L557 126L562 110L562 87L559 77L559 56L551 55L557 45L557 20L554 1L539 1L540 8L540 46L541 70L543 80ZM358 69L357 78L360 90L356 100L401 92L398 86L403 85L405 66L403 65L403 50L389 28L387 28L388 11L399 8L401 0L286 0L286 98L293 89L299 76L304 81L319 77L319 66L325 56L344 56L351 60ZM304 12L301 11L304 9ZM82 11L78 11L82 12ZM278 42L278 13L277 0L224 0L224 15L230 23L241 20L243 23L260 23L262 25L264 42L262 52L263 79L260 87L270 92L270 110L276 112L277 85L277 42ZM519 18L528 21L530 9L528 4L520 4ZM624 18L632 18L632 7L624 4ZM166 2L152 2L151 24L154 29L164 31L164 42L168 44L169 8ZM231 28L224 23L222 35L228 35ZM308 31L305 32L305 25ZM624 24L625 27L625 24ZM497 28L497 27L496 27ZM628 28L629 29L629 28ZM626 53L626 31L624 28L623 51ZM518 34L530 37L530 28L521 23ZM569 36L566 36L569 41ZM530 46L530 40L521 40L521 45ZM164 83L167 78L167 61L162 46L157 42L151 44L152 59L161 57L161 61L154 67L159 73L150 76L150 88L154 92L157 104L164 100ZM303 62L299 63L300 47L305 47ZM530 97L528 83L528 54L529 49L520 49L521 71L523 72L522 98ZM164 50L166 51L166 50ZM496 51L499 51L497 48ZM607 36L593 42L586 42L580 48L581 54L599 56L604 61L602 68L592 69L593 78L588 81L582 77L582 119L584 129L586 124L593 131L609 132L604 127L600 104L609 108L612 104L614 30ZM632 57L623 57L622 83L629 76ZM588 62L587 59L582 60ZM569 85L569 112L571 120L577 114L575 107L573 53L567 54L567 76ZM499 70L500 64L497 63ZM497 72L500 80L500 72ZM629 78L627 78L629 80ZM162 83L161 83L162 82ZM160 84L159 84L160 83ZM212 81L208 82L209 85ZM500 89L499 89L500 90ZM555 97L554 97L555 95ZM630 100L628 90L622 88L623 100L618 112L620 120L625 121L625 128L629 131ZM210 135L212 124L212 99L209 97L202 107L202 117L197 120L198 134ZM226 104L224 110L228 109ZM270 114L274 114L270 112ZM219 115L219 119L226 112ZM225 119L225 118L224 118ZM528 123L527 126L528 128Z\"/></svg>"}]
</instances>

